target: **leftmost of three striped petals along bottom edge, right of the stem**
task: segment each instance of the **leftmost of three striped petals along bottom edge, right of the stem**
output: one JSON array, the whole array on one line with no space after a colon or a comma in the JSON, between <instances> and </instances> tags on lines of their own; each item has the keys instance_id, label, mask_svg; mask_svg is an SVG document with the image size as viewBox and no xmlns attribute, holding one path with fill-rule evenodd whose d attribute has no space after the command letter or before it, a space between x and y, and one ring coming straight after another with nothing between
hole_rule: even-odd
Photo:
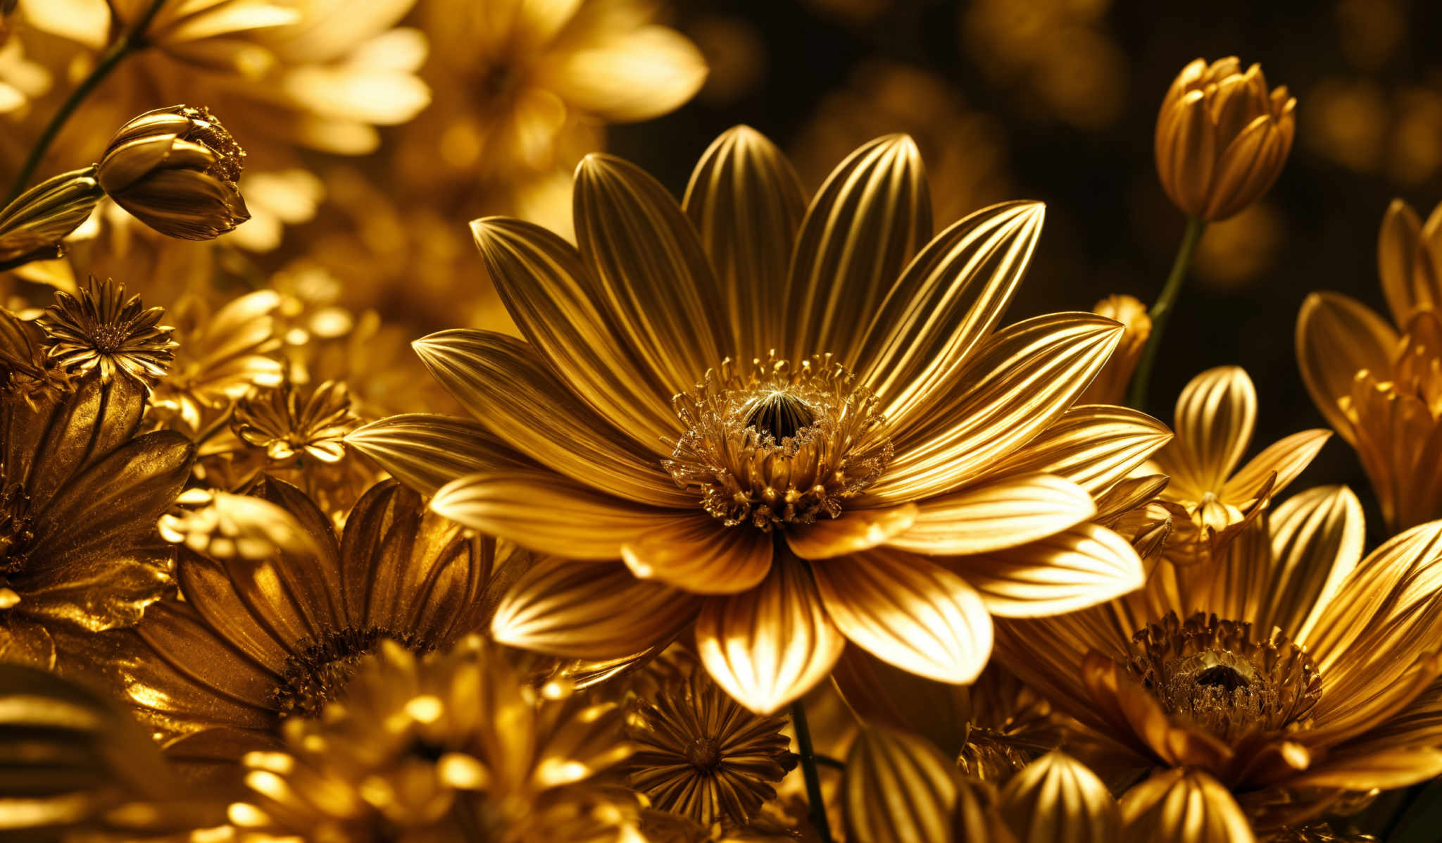
<instances>
[{"instance_id":1,"label":"leftmost of three striped petals along bottom edge, right of the stem","mask_svg":"<svg viewBox=\"0 0 1442 843\"><path fill-rule=\"evenodd\" d=\"M857 843L952 839L956 771L934 746L900 729L867 726L846 755L842 814Z\"/></svg>"}]
</instances>

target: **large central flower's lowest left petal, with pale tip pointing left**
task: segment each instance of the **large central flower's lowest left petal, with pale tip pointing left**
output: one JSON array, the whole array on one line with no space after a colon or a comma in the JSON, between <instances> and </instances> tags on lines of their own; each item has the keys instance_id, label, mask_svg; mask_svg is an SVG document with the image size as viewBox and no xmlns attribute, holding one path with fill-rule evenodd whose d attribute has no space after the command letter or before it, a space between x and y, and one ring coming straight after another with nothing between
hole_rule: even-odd
<instances>
[{"instance_id":1,"label":"large central flower's lowest left petal, with pale tip pointing left","mask_svg":"<svg viewBox=\"0 0 1442 843\"><path fill-rule=\"evenodd\" d=\"M547 559L496 606L500 644L568 658L619 658L675 638L701 599L639 580L623 564Z\"/></svg>"}]
</instances>

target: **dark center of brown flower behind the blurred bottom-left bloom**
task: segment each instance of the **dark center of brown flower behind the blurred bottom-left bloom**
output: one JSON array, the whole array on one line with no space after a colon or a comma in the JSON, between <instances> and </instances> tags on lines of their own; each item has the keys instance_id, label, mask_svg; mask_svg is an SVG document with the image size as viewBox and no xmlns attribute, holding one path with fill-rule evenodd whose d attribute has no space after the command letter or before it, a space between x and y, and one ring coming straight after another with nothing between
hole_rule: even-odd
<instances>
[{"instance_id":1,"label":"dark center of brown flower behind the blurred bottom-left bloom","mask_svg":"<svg viewBox=\"0 0 1442 843\"><path fill-rule=\"evenodd\" d=\"M320 709L339 699L360 660L372 652L382 638L389 638L415 652L428 652L415 635L398 634L381 626L327 631L316 638L307 638L286 658L280 686L271 691L271 703L281 715L314 717Z\"/></svg>"}]
</instances>

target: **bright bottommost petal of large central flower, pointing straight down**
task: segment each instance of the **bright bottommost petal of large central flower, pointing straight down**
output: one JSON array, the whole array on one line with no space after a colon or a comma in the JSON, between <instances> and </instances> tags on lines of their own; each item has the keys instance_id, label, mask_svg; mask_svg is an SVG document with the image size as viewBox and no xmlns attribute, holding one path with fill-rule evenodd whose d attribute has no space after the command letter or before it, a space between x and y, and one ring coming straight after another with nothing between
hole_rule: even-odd
<instances>
[{"instance_id":1,"label":"bright bottommost petal of large central flower, pointing straight down","mask_svg":"<svg viewBox=\"0 0 1442 843\"><path fill-rule=\"evenodd\" d=\"M846 639L826 616L806 563L779 554L760 586L708 598L696 654L725 693L769 715L799 699L841 657Z\"/></svg>"}]
</instances>

